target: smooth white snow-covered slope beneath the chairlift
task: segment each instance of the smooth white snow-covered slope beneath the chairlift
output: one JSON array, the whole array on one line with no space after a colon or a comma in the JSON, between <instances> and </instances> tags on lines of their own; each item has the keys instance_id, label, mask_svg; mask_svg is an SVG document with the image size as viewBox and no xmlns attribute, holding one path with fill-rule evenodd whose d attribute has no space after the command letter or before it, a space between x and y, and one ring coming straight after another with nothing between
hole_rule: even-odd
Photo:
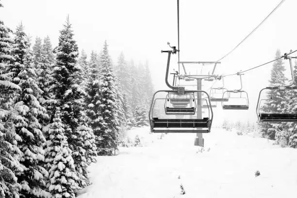
<instances>
[{"instance_id":1,"label":"smooth white snow-covered slope beneath the chairlift","mask_svg":"<svg viewBox=\"0 0 297 198\"><path fill-rule=\"evenodd\" d=\"M90 167L92 185L79 198L292 198L297 194L297 149L213 129L204 134L139 134L146 147L121 148ZM208 151L209 150L209 151ZM255 177L255 171L261 175ZM180 178L180 179L179 179ZM181 195L180 184L185 194Z\"/></svg>"}]
</instances>

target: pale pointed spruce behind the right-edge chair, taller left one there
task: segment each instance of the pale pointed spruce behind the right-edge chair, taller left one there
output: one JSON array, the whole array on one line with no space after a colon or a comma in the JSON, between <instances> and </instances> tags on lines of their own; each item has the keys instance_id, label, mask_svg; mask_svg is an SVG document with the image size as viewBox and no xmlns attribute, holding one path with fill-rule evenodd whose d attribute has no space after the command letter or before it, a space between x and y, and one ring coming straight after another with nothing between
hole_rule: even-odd
<instances>
[{"instance_id":1,"label":"pale pointed spruce behind the right-edge chair, taller left one there","mask_svg":"<svg viewBox=\"0 0 297 198\"><path fill-rule=\"evenodd\" d=\"M278 49L275 54L275 58L281 57L281 51ZM285 85L287 78L284 75L285 67L283 65L282 59L279 59L273 63L271 74L270 74L270 81L269 86L276 87L276 86L283 86ZM271 90L268 92L268 97L270 100L267 100L265 105L263 106L264 112L274 112L274 113L281 113L281 110L284 109L285 104L282 102L286 99L284 91L278 90ZM260 133L263 137L267 137L268 139L275 139L276 132L281 132L284 130L283 124L270 124L266 123L259 123Z\"/></svg>"}]
</instances>

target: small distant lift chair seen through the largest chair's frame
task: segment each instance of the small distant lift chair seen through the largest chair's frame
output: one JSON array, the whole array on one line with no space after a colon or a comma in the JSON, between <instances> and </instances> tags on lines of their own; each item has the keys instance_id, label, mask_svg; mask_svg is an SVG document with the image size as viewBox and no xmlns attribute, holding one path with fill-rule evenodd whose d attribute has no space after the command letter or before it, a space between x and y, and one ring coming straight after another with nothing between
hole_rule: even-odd
<instances>
[{"instance_id":1,"label":"small distant lift chair seen through the largest chair's frame","mask_svg":"<svg viewBox=\"0 0 297 198\"><path fill-rule=\"evenodd\" d=\"M194 115L196 111L194 93L185 95L169 93L166 96L164 108L166 114Z\"/></svg>"}]
</instances>

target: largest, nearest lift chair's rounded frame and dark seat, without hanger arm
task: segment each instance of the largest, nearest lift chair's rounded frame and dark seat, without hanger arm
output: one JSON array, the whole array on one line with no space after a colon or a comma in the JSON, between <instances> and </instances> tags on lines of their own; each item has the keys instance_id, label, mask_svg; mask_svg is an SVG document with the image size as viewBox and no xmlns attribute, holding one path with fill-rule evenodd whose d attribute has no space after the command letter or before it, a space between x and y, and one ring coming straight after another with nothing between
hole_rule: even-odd
<instances>
[{"instance_id":1,"label":"largest, nearest lift chair's rounded frame and dark seat, without hanger arm","mask_svg":"<svg viewBox=\"0 0 297 198\"><path fill-rule=\"evenodd\" d=\"M206 133L211 131L213 120L213 110L211 106L208 108L208 114L206 113L207 115L203 118L199 117L200 115L198 115L196 111L194 111L194 114L192 114L192 112L191 114L188 114L188 112L171 112L172 114L168 114L168 110L166 113L166 108L160 108L161 105L170 103L170 99L168 101L167 97L170 94L185 97L187 94L194 95L196 93L199 96L200 93L205 93L208 101L210 102L209 96L205 91L184 90L183 92L184 93L180 94L179 90L160 90L154 93L148 113L151 132ZM166 94L166 97L159 96L162 94ZM194 100L194 103L201 105L201 101L199 99Z\"/></svg>"}]
</instances>

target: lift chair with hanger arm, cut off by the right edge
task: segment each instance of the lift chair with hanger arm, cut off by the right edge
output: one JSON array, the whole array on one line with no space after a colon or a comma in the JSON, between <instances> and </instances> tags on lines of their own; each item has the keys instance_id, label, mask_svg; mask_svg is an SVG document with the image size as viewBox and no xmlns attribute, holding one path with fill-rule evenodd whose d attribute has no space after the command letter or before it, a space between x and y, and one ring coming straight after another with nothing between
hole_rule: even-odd
<instances>
[{"instance_id":1,"label":"lift chair with hanger arm, cut off by the right edge","mask_svg":"<svg viewBox=\"0 0 297 198\"><path fill-rule=\"evenodd\" d=\"M289 85L279 86L279 87L266 87L261 89L259 93L256 113L258 120L260 122L297 122L297 113L292 112L288 106L290 104L296 104L297 99L293 98L293 90L297 90L297 86L294 85L295 76L293 71L293 64L292 58L296 57L289 57L286 54L284 55L284 59L289 59L290 62L290 69L292 75L292 82ZM263 91L268 90L266 93L265 99L263 99ZM275 96L282 95L288 97L289 99L279 99L279 103L271 105L271 101L275 101ZM291 96L290 96L291 95ZM269 108L266 108L268 107Z\"/></svg>"}]
</instances>

